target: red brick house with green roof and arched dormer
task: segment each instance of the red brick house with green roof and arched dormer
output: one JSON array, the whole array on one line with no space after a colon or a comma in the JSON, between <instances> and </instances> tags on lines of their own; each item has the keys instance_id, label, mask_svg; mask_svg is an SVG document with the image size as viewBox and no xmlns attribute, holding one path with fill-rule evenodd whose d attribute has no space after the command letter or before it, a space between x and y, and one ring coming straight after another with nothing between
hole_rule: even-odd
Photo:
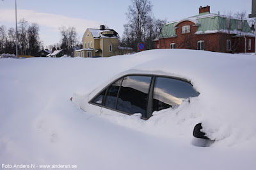
<instances>
[{"instance_id":1,"label":"red brick house with green roof and arched dormer","mask_svg":"<svg viewBox=\"0 0 256 170\"><path fill-rule=\"evenodd\" d=\"M156 49L255 51L255 35L248 22L210 13L210 6L201 6L199 15L165 24L154 41Z\"/></svg>"}]
</instances>

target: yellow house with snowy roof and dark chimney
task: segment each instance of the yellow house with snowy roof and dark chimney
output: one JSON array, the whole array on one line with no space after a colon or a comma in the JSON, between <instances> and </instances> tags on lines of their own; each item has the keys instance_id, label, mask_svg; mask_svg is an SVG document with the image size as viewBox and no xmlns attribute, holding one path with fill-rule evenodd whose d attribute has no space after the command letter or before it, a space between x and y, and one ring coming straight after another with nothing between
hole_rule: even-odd
<instances>
[{"instance_id":1,"label":"yellow house with snowy roof and dark chimney","mask_svg":"<svg viewBox=\"0 0 256 170\"><path fill-rule=\"evenodd\" d=\"M118 46L119 38L114 29L105 29L103 25L100 29L86 29L83 35L83 49L74 50L74 57L109 57L122 52L131 53L131 48L122 49Z\"/></svg>"}]
</instances>

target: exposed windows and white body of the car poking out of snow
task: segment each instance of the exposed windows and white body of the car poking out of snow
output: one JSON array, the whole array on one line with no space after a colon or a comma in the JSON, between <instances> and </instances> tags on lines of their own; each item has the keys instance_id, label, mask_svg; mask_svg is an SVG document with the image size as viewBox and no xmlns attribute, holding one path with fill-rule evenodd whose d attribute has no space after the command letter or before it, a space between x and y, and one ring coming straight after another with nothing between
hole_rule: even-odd
<instances>
[{"instance_id":1,"label":"exposed windows and white body of the car poking out of snow","mask_svg":"<svg viewBox=\"0 0 256 170\"><path fill-rule=\"evenodd\" d=\"M177 107L187 98L199 95L191 82L166 73L128 70L118 76L103 89L95 89L86 100L75 96L72 101L84 111L138 113L147 120L154 111Z\"/></svg>"}]
</instances>

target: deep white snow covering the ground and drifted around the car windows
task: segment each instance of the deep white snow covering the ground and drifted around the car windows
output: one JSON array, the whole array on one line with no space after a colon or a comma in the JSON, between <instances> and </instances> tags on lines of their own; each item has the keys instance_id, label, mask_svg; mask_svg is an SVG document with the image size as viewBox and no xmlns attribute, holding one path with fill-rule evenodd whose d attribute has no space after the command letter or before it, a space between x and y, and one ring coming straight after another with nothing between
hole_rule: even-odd
<instances>
[{"instance_id":1,"label":"deep white snow covering the ground and drifted around the car windows","mask_svg":"<svg viewBox=\"0 0 256 170\"><path fill-rule=\"evenodd\" d=\"M147 121L70 101L129 69L186 78L200 95ZM255 56L198 50L0 59L0 169L255 169L255 76ZM201 121L209 147L192 135Z\"/></svg>"}]
</instances>

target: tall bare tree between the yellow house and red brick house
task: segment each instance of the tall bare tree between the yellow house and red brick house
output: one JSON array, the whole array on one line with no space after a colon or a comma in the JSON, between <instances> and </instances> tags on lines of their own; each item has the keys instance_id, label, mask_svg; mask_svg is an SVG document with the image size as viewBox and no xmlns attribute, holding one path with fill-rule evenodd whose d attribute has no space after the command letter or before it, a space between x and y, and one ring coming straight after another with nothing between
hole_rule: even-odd
<instances>
[{"instance_id":1,"label":"tall bare tree between the yellow house and red brick house","mask_svg":"<svg viewBox=\"0 0 256 170\"><path fill-rule=\"evenodd\" d=\"M166 20L155 19L150 0L131 0L126 13L128 23L124 25L122 46L138 51L138 43L145 49L155 49L154 39L159 35Z\"/></svg>"}]
</instances>

